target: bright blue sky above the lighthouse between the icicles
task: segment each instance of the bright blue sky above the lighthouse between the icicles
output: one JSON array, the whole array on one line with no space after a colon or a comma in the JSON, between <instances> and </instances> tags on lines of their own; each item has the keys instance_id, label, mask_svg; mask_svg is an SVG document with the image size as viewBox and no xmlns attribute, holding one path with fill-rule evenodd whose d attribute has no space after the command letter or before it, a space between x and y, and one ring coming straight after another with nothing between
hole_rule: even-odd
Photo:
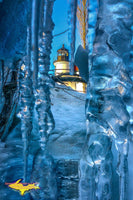
<instances>
[{"instance_id":1,"label":"bright blue sky above the lighthouse between the icicles","mask_svg":"<svg viewBox=\"0 0 133 200\"><path fill-rule=\"evenodd\" d=\"M69 3L68 0L56 0L54 3L53 10L53 21L55 24L55 28L53 34L58 34L60 32L68 29L68 8ZM76 46L80 43L79 36L77 36ZM67 49L70 48L70 42L68 41L68 32L54 37L52 44L52 53L51 53L51 67L53 65L53 61L56 60L57 50L62 47L62 44L65 45Z\"/></svg>"}]
</instances>

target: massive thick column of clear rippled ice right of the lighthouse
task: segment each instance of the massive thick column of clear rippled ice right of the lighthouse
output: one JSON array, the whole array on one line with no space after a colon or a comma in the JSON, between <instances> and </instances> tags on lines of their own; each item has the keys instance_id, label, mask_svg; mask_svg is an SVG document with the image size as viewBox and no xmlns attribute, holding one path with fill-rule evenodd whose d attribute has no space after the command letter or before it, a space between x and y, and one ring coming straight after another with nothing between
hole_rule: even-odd
<instances>
[{"instance_id":1,"label":"massive thick column of clear rippled ice right of the lighthouse","mask_svg":"<svg viewBox=\"0 0 133 200\"><path fill-rule=\"evenodd\" d=\"M99 1L92 69L87 92L87 138L80 160L80 199L115 199L111 140L119 154L119 199L127 200L128 140L132 80L127 72L133 2ZM115 169L116 170L116 169Z\"/></svg>"}]
</instances>

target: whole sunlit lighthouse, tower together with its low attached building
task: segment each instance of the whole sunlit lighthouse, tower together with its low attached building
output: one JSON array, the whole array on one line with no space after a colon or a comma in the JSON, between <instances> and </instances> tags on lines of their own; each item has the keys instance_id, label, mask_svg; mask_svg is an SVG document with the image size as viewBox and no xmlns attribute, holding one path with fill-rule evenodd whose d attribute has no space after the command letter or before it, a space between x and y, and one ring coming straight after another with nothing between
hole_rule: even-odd
<instances>
[{"instance_id":1,"label":"whole sunlit lighthouse, tower together with its low attached building","mask_svg":"<svg viewBox=\"0 0 133 200\"><path fill-rule=\"evenodd\" d=\"M74 66L74 75L70 75L69 64L69 52L63 44L62 48L57 51L57 60L54 61L54 80L58 84L65 84L78 92L85 93L86 82L80 77L78 67Z\"/></svg>"}]
</instances>

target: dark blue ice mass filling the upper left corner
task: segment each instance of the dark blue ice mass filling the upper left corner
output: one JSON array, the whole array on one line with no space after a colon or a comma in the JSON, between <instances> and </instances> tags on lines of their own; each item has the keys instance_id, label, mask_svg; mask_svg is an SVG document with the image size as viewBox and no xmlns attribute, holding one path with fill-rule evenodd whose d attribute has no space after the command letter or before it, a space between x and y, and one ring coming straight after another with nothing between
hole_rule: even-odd
<instances>
[{"instance_id":1,"label":"dark blue ice mass filling the upper left corner","mask_svg":"<svg viewBox=\"0 0 133 200\"><path fill-rule=\"evenodd\" d=\"M25 55L29 2L0 1L0 59L6 62Z\"/></svg>"}]
</instances>

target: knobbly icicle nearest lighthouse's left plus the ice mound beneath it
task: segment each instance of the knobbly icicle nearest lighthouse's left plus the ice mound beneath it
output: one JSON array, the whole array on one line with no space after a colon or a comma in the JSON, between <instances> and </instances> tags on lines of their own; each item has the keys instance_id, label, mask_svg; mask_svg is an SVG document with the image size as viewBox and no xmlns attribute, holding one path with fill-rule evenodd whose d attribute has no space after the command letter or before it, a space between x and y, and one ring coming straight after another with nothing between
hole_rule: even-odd
<instances>
[{"instance_id":1,"label":"knobbly icicle nearest lighthouse's left plus the ice mound beneath it","mask_svg":"<svg viewBox=\"0 0 133 200\"><path fill-rule=\"evenodd\" d=\"M38 117L40 150L34 158L32 182L38 182L40 190L31 191L33 199L56 199L56 178L54 162L47 151L48 137L54 128L54 118L50 110L50 87L53 82L49 77L50 53L52 43L52 10L54 0L40 1L40 19L38 29L38 85L35 92L35 108ZM38 173L39 172L39 173Z\"/></svg>"}]
</instances>

